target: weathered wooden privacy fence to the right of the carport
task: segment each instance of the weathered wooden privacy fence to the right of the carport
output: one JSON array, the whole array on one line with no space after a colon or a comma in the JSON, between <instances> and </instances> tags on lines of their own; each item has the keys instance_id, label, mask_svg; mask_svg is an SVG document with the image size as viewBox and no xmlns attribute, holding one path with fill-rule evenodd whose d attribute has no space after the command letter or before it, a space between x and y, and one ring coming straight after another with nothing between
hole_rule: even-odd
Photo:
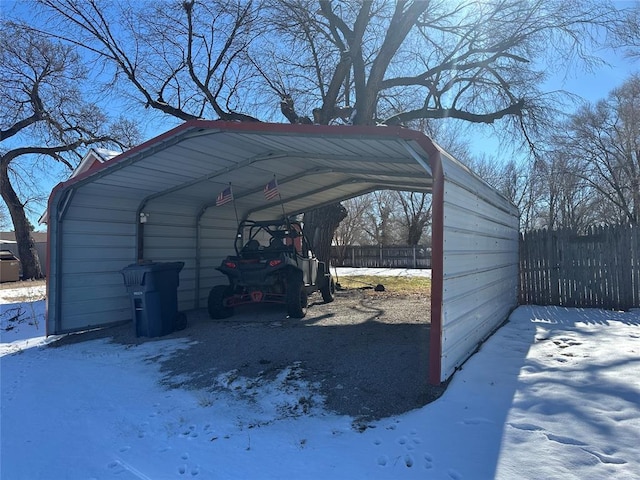
<instances>
[{"instance_id":1,"label":"weathered wooden privacy fence to the right of the carport","mask_svg":"<svg viewBox=\"0 0 640 480\"><path fill-rule=\"evenodd\" d=\"M520 302L640 307L640 228L532 231L520 237Z\"/></svg>"}]
</instances>

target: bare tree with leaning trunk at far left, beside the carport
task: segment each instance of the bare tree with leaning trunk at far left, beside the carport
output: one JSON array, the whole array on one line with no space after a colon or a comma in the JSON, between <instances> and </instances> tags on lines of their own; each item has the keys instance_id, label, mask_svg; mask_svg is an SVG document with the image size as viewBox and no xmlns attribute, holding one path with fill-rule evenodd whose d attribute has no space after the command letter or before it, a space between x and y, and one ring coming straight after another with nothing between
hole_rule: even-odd
<instances>
[{"instance_id":1,"label":"bare tree with leaning trunk at far left, beside the carport","mask_svg":"<svg viewBox=\"0 0 640 480\"><path fill-rule=\"evenodd\" d=\"M0 191L15 230L23 278L41 278L25 213L28 199L14 188L25 180L21 162L45 157L72 169L81 147L113 144L113 125L96 105L82 100L86 72L73 48L8 22L0 24L0 45ZM127 122L118 129L135 137Z\"/></svg>"}]
</instances>

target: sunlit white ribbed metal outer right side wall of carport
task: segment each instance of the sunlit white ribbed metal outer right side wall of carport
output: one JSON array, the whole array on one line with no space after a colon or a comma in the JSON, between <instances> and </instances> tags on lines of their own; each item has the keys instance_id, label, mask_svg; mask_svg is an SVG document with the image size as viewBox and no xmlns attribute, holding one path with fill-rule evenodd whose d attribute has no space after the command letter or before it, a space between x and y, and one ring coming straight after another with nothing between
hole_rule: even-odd
<instances>
[{"instance_id":1,"label":"sunlit white ribbed metal outer right side wall of carport","mask_svg":"<svg viewBox=\"0 0 640 480\"><path fill-rule=\"evenodd\" d=\"M465 167L446 161L444 172L443 381L516 306L519 224L515 206Z\"/></svg>"}]
</instances>

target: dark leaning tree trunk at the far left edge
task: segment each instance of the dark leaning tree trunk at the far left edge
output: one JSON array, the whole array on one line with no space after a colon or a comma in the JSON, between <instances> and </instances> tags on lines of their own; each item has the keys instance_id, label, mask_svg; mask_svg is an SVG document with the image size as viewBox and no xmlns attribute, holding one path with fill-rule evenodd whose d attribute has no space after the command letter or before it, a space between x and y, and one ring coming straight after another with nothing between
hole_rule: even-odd
<instances>
[{"instance_id":1,"label":"dark leaning tree trunk at the far left edge","mask_svg":"<svg viewBox=\"0 0 640 480\"><path fill-rule=\"evenodd\" d=\"M24 205L20 203L16 191L9 182L8 165L4 162L0 167L0 191L13 221L18 256L22 264L22 278L23 280L43 278L44 275L42 274L36 243L31 235L31 228L29 228L29 221L24 212Z\"/></svg>"}]
</instances>

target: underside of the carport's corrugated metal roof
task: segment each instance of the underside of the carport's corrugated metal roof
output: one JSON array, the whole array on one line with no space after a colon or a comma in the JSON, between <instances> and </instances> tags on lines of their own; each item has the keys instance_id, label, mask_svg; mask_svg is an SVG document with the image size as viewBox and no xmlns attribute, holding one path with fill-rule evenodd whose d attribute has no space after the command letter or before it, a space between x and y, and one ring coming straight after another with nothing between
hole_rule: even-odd
<instances>
[{"instance_id":1,"label":"underside of the carport's corrugated metal roof","mask_svg":"<svg viewBox=\"0 0 640 480\"><path fill-rule=\"evenodd\" d=\"M401 129L249 127L244 131L225 122L189 122L120 155L77 186L130 190L127 196L135 192L141 205L165 197L199 211L214 205L218 193L231 184L238 214L258 219L281 216L283 208L296 214L377 189L431 189L431 175L424 168L428 153L415 142L408 147L410 138L403 138ZM301 129L307 135L301 136ZM274 175L282 203L263 196Z\"/></svg>"}]
</instances>

